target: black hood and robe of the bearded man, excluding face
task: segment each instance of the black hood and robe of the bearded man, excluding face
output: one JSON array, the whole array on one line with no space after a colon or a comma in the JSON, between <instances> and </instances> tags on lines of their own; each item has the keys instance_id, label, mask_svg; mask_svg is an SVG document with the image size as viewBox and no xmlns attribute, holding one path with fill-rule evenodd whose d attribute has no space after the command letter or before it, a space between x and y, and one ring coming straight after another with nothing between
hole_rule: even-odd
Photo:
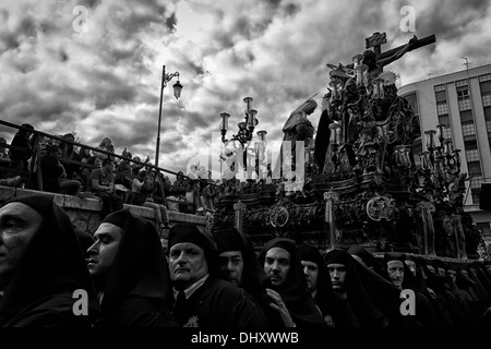
<instances>
[{"instance_id":1,"label":"black hood and robe of the bearded man, excluding face","mask_svg":"<svg viewBox=\"0 0 491 349\"><path fill-rule=\"evenodd\" d=\"M294 240L277 238L270 240L259 255L259 261L264 265L266 253L273 248L280 248L290 254L290 270L285 282L278 287L272 287L285 302L291 318L298 327L325 327L325 322L307 289L303 268L297 253Z\"/></svg>"}]
</instances>

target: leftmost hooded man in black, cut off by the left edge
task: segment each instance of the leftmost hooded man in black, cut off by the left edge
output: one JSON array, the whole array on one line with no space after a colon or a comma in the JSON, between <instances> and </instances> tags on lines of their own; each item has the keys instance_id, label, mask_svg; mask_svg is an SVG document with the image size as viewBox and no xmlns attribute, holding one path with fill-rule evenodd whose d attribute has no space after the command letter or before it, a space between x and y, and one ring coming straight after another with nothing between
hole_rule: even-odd
<instances>
[{"instance_id":1,"label":"leftmost hooded man in black, cut off by the left edge","mask_svg":"<svg viewBox=\"0 0 491 349\"><path fill-rule=\"evenodd\" d=\"M51 195L0 208L0 327L92 327L99 306L68 214Z\"/></svg>"}]
</instances>

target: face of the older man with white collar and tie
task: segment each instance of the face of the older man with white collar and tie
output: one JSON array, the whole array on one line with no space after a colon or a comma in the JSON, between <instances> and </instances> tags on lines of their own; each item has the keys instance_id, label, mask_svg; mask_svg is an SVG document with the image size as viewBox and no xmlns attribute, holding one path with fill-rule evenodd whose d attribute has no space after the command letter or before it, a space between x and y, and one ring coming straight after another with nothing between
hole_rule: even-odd
<instances>
[{"instance_id":1,"label":"face of the older man with white collar and tie","mask_svg":"<svg viewBox=\"0 0 491 349\"><path fill-rule=\"evenodd\" d=\"M170 248L169 269L177 288L184 290L208 273L204 250L191 242L179 242Z\"/></svg>"}]
</instances>

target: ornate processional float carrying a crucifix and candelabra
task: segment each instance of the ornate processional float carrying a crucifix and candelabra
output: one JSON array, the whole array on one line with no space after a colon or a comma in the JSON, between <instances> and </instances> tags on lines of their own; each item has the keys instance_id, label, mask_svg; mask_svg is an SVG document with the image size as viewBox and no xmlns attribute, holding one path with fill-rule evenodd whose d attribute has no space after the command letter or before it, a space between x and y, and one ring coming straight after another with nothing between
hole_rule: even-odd
<instances>
[{"instance_id":1,"label":"ornate processional float carrying a crucifix and candelabra","mask_svg":"<svg viewBox=\"0 0 491 349\"><path fill-rule=\"evenodd\" d=\"M297 152L297 159L285 161L292 168L304 166L304 176L282 171L280 180L251 180L225 193L211 232L214 226L235 226L258 248L288 237L323 250L361 244L373 253L479 258L483 242L464 210L468 177L460 172L460 151L444 137L443 125L421 132L408 100L397 96L397 75L383 71L406 52L434 41L433 35L415 36L382 52L385 34L374 33L350 64L326 64L328 92L315 137L301 132L310 128L303 118L297 141L306 142L304 154Z\"/></svg>"}]
</instances>

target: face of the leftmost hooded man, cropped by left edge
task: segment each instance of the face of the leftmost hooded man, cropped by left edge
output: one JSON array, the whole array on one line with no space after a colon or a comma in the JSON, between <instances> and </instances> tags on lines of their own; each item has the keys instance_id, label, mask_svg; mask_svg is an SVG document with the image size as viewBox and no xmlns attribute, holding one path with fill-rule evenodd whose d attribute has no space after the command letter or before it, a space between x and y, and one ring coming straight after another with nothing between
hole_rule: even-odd
<instances>
[{"instance_id":1,"label":"face of the leftmost hooded man, cropped by left edge","mask_svg":"<svg viewBox=\"0 0 491 349\"><path fill-rule=\"evenodd\" d=\"M43 216L23 203L0 208L0 286L15 273L31 240L43 222Z\"/></svg>"}]
</instances>

